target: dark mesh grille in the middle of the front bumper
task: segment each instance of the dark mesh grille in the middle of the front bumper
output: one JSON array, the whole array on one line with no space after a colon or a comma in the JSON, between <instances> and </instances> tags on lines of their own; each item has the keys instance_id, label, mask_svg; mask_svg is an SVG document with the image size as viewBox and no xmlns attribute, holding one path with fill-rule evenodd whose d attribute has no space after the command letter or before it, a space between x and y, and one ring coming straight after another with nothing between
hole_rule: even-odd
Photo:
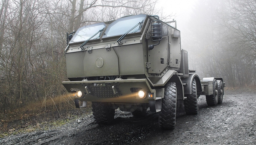
<instances>
[{"instance_id":1,"label":"dark mesh grille in the middle of the front bumper","mask_svg":"<svg viewBox=\"0 0 256 145\"><path fill-rule=\"evenodd\" d=\"M89 84L90 88L98 98L118 98L120 95L114 94L112 90L112 85L105 83L104 86L97 86L94 84Z\"/></svg>"}]
</instances>

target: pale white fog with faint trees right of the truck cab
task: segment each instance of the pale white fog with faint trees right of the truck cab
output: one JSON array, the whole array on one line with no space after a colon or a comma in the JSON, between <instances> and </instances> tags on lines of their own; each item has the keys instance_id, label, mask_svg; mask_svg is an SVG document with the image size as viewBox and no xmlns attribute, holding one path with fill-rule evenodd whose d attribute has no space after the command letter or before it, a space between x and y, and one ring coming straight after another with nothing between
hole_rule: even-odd
<instances>
[{"instance_id":1,"label":"pale white fog with faint trees right of the truck cab","mask_svg":"<svg viewBox=\"0 0 256 145\"><path fill-rule=\"evenodd\" d=\"M189 69L229 87L255 86L255 0L159 0L157 7L177 20Z\"/></svg>"}]
</instances>

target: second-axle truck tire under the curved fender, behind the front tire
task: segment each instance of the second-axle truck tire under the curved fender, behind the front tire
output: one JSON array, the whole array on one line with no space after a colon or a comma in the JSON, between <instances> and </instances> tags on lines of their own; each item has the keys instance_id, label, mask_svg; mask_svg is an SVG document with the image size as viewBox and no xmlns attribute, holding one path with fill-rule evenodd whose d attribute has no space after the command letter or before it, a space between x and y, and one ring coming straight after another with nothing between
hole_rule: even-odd
<instances>
[{"instance_id":1,"label":"second-axle truck tire under the curved fender, behind the front tire","mask_svg":"<svg viewBox=\"0 0 256 145\"><path fill-rule=\"evenodd\" d=\"M187 96L187 99L184 100L185 112L188 115L198 114L198 105L197 105L197 82L195 79L192 81L192 94Z\"/></svg>"}]
</instances>

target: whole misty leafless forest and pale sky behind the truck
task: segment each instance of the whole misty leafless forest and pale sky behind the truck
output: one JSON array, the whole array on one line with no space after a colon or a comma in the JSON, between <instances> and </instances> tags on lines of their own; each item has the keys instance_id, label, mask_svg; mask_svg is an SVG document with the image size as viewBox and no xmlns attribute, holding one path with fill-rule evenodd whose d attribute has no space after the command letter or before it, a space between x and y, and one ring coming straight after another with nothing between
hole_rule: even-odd
<instances>
[{"instance_id":1,"label":"whole misty leafless forest and pale sky behind the truck","mask_svg":"<svg viewBox=\"0 0 256 145\"><path fill-rule=\"evenodd\" d=\"M200 78L256 86L255 0L1 0L0 113L65 98L66 32L140 13L177 20L189 69Z\"/></svg>"}]
</instances>

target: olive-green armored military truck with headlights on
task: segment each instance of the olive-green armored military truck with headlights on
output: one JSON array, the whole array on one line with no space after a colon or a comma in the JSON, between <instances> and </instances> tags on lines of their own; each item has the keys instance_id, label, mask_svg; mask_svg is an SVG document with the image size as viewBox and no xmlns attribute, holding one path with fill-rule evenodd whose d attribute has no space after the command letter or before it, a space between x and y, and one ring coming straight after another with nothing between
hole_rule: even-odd
<instances>
[{"instance_id":1,"label":"olive-green armored military truck with headlights on","mask_svg":"<svg viewBox=\"0 0 256 145\"><path fill-rule=\"evenodd\" d=\"M168 130L175 127L177 105L186 114L198 114L200 95L208 105L223 100L223 79L200 80L188 69L176 21L165 23L159 16L132 15L83 26L67 33L65 54L70 81L62 84L76 107L92 102L98 124L110 123L117 108L137 117L149 108L159 112L159 127Z\"/></svg>"}]
</instances>

